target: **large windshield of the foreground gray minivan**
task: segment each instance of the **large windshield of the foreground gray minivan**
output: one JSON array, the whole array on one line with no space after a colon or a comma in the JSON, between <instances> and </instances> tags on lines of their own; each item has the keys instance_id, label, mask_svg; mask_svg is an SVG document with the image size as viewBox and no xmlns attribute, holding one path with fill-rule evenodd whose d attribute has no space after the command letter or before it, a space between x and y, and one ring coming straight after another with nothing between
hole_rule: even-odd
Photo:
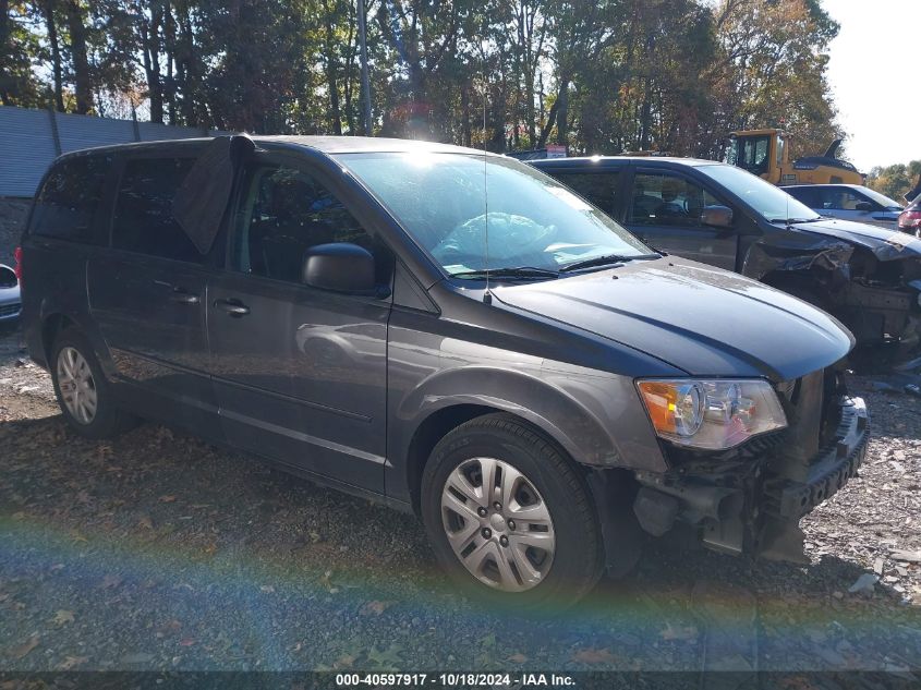
<instances>
[{"instance_id":1,"label":"large windshield of the foreground gray minivan","mask_svg":"<svg viewBox=\"0 0 921 690\"><path fill-rule=\"evenodd\" d=\"M653 253L604 213L517 160L429 152L341 154L337 160L451 275L487 267L556 271L601 256Z\"/></svg>"}]
</instances>

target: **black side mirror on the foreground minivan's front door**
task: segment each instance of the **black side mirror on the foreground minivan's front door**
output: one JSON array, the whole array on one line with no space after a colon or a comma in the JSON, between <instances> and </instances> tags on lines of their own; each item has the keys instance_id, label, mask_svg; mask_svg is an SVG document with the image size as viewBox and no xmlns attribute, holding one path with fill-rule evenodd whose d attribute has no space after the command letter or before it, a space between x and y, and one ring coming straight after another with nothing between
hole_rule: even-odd
<instances>
[{"instance_id":1,"label":"black side mirror on the foreground minivan's front door","mask_svg":"<svg viewBox=\"0 0 921 690\"><path fill-rule=\"evenodd\" d=\"M304 254L301 280L334 292L374 293L374 256L350 242L317 244Z\"/></svg>"}]
</instances>

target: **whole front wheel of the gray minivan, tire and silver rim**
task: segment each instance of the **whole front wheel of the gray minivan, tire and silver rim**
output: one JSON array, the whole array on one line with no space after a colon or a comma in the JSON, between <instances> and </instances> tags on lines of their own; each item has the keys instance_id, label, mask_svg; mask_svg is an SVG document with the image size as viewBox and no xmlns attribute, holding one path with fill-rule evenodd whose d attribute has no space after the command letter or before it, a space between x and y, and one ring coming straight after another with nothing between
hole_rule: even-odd
<instances>
[{"instance_id":1,"label":"whole front wheel of the gray minivan, tire and silver rim","mask_svg":"<svg viewBox=\"0 0 921 690\"><path fill-rule=\"evenodd\" d=\"M422 481L436 557L465 591L519 608L567 606L604 561L587 487L571 462L504 414L445 436Z\"/></svg>"}]
</instances>

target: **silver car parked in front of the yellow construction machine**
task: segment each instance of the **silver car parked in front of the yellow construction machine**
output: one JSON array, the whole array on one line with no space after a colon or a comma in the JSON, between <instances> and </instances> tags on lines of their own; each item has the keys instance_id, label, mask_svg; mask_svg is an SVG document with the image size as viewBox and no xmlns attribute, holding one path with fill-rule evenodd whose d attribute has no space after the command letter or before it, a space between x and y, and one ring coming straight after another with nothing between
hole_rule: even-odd
<instances>
[{"instance_id":1,"label":"silver car parked in front of the yellow construction machine","mask_svg":"<svg viewBox=\"0 0 921 690\"><path fill-rule=\"evenodd\" d=\"M784 191L823 216L889 230L897 229L898 215L905 210L885 194L859 184L796 184Z\"/></svg>"}]
</instances>

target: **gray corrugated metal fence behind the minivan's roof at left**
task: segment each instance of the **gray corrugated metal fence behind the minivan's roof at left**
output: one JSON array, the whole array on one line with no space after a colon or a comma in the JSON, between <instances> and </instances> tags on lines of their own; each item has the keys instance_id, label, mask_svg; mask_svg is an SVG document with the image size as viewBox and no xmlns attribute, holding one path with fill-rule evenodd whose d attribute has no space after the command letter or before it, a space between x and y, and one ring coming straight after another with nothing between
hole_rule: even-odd
<instances>
[{"instance_id":1,"label":"gray corrugated metal fence behind the minivan's roof at left","mask_svg":"<svg viewBox=\"0 0 921 690\"><path fill-rule=\"evenodd\" d=\"M60 154L108 144L219 133L0 106L0 197L33 196L41 175Z\"/></svg>"}]
</instances>

